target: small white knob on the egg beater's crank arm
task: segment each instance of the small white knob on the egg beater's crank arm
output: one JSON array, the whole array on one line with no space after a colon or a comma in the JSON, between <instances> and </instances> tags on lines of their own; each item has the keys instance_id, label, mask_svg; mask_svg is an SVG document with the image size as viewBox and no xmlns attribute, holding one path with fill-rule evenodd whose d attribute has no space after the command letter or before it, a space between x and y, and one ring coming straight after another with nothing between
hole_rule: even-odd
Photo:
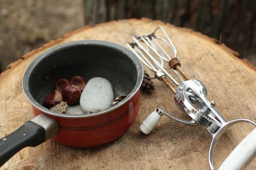
<instances>
[{"instance_id":1,"label":"small white knob on the egg beater's crank arm","mask_svg":"<svg viewBox=\"0 0 256 170\"><path fill-rule=\"evenodd\" d=\"M161 119L161 115L158 114L156 111L149 114L149 116L143 121L143 123L139 126L139 129L144 134L149 134L158 124Z\"/></svg>"}]
</instances>

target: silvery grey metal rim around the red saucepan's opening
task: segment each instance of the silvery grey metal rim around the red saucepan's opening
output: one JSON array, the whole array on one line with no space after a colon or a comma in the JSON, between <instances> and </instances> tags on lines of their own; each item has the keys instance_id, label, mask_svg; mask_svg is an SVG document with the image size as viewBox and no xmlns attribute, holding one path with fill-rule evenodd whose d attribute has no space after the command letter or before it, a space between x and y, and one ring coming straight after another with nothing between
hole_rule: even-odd
<instances>
[{"instance_id":1,"label":"silvery grey metal rim around the red saucepan's opening","mask_svg":"<svg viewBox=\"0 0 256 170\"><path fill-rule=\"evenodd\" d=\"M117 50L119 52L122 52L126 56L129 57L129 59L132 60L134 65L137 67L137 82L135 86L133 87L133 90L127 95L126 98L124 98L122 101L116 103L114 106L111 106L110 108L107 108L105 110L102 110L100 112L95 112L95 113L90 113L90 114L76 114L76 115L71 115L71 114L64 114L64 113L58 113L55 111L52 111L48 108L43 107L40 103L38 103L31 95L28 87L28 80L30 77L31 72L34 70L35 67L37 67L38 63L40 63L43 58L51 55L52 53L55 53L56 51L64 50L66 48L69 48L70 46L81 46L81 45L92 45L92 46L102 46L102 47L110 47L114 50ZM104 113L109 113L112 110L115 110L121 106L123 106L125 103L127 103L135 94L138 93L141 83L143 81L143 66L142 63L140 62L139 58L128 48L121 46L119 44L110 42L110 41L102 41L102 40L80 40L80 41L70 41L66 42L57 46L54 46L47 51L41 53L38 57L36 57L27 67L26 71L24 72L23 78L22 78L22 88L23 92L27 98L27 100L32 104L33 107L37 108L38 110L42 111L43 113L55 116L55 117L60 117L60 118L89 118L93 116L98 116Z\"/></svg>"}]
</instances>

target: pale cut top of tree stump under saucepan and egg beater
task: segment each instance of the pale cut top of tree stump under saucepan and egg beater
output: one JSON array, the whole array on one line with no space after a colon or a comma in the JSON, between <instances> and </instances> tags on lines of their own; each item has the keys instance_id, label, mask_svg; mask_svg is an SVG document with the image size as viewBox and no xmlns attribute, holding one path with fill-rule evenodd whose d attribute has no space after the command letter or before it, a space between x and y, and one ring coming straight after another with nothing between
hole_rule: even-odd
<instances>
[{"instance_id":1,"label":"pale cut top of tree stump under saucepan and egg beater","mask_svg":"<svg viewBox=\"0 0 256 170\"><path fill-rule=\"evenodd\" d=\"M215 101L216 108L228 120L255 120L256 67L201 33L143 18L85 26L12 63L11 68L0 75L0 138L33 118L21 82L27 66L39 54L64 42L84 39L112 41L126 46L126 42L132 41L132 35L151 33L157 26L162 26L171 37L183 70L190 78L205 84L208 98ZM153 81L155 90L151 94L142 92L138 117L119 139L103 146L82 149L67 147L50 139L37 147L22 149L0 169L210 169L208 150L211 136L202 127L184 125L163 116L151 134L140 132L139 125L156 107L177 117L188 118L176 107L174 95L165 84L156 79ZM223 135L214 154L217 168L253 128L250 124L238 124ZM256 169L255 160L248 169Z\"/></svg>"}]
</instances>

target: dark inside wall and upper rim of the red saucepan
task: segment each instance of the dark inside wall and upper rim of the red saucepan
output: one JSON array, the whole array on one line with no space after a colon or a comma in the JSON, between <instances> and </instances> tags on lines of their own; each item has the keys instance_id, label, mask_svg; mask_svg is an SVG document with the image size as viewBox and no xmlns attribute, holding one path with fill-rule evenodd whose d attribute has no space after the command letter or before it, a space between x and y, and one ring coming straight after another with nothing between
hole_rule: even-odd
<instances>
[{"instance_id":1,"label":"dark inside wall and upper rim of the red saucepan","mask_svg":"<svg viewBox=\"0 0 256 170\"><path fill-rule=\"evenodd\" d=\"M23 77L24 93L30 102L35 100L44 106L55 82L74 76L84 77L86 82L104 77L112 83L117 97L138 91L143 68L139 59L123 46L107 41L70 42L42 53L31 63Z\"/></svg>"}]
</instances>

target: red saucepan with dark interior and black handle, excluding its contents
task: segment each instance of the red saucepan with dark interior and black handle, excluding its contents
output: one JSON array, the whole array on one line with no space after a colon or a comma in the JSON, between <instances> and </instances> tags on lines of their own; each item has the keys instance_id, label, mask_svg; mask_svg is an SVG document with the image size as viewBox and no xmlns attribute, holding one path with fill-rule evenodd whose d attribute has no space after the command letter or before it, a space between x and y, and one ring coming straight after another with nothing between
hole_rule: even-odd
<instances>
[{"instance_id":1,"label":"red saucepan with dark interior and black handle, excluding its contents","mask_svg":"<svg viewBox=\"0 0 256 170\"><path fill-rule=\"evenodd\" d=\"M121 102L100 112L64 114L44 106L44 99L61 78L104 77L112 83ZM133 124L140 106L143 67L127 48L98 40L74 41L43 52L27 68L23 91L32 104L35 118L0 139L0 166L27 146L52 138L72 147L93 147L111 142Z\"/></svg>"}]
</instances>

